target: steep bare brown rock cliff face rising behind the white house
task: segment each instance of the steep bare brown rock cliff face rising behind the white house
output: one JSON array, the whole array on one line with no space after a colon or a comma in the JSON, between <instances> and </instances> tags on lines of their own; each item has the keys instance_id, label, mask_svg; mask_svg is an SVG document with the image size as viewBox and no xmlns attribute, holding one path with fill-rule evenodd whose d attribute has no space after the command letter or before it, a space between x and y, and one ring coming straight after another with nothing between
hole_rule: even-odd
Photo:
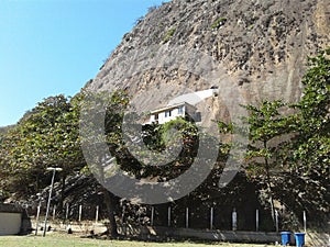
<instances>
[{"instance_id":1,"label":"steep bare brown rock cliff face rising behind the white house","mask_svg":"<svg viewBox=\"0 0 330 247\"><path fill-rule=\"evenodd\" d=\"M123 36L87 88L127 89L148 111L219 87L207 119L226 116L224 105L296 101L306 57L330 45L329 33L329 0L174 0Z\"/></svg>"}]
</instances>

